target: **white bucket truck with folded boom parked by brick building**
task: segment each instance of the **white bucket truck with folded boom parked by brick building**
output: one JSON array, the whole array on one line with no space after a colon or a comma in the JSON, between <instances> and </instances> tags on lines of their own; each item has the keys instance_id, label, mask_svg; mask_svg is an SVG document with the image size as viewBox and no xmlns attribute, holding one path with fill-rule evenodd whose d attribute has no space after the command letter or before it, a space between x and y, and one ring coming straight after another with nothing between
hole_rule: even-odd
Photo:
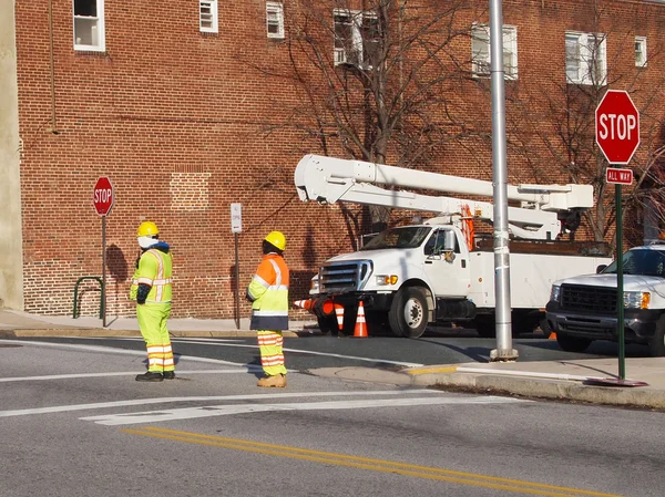
<instances>
[{"instance_id":1,"label":"white bucket truck with folded boom parked by brick building","mask_svg":"<svg viewBox=\"0 0 665 497\"><path fill-rule=\"evenodd\" d=\"M493 238L473 229L473 221L492 224L493 205L401 190L492 197L490 182L306 155L295 183L304 201L436 213L422 224L382 231L361 250L323 263L310 292L310 310L321 331L337 330L332 302L344 307L344 332L350 332L362 301L370 334L388 324L398 336L417 338L428 323L441 321L494 335ZM576 229L581 213L592 207L592 186L508 186L508 199L512 328L519 333L545 325L555 280L595 272L611 259L605 244L557 240Z\"/></svg>"}]
</instances>

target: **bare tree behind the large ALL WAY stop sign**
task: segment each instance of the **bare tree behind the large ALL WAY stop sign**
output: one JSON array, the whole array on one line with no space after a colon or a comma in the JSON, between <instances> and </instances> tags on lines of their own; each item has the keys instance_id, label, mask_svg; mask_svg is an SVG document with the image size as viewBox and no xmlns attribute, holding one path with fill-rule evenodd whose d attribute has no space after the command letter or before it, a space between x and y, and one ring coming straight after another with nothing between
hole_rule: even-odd
<instances>
[{"instance_id":1,"label":"bare tree behind the large ALL WAY stop sign","mask_svg":"<svg viewBox=\"0 0 665 497\"><path fill-rule=\"evenodd\" d=\"M640 244L643 234L636 228L643 225L645 210L657 215L652 222L665 220L661 167L665 136L659 110L665 77L636 63L638 46L626 19L611 15L607 2L586 4L593 20L591 32L566 33L565 61L549 64L552 72L544 84L522 85L514 92L509 146L529 164L536 180L551 180L554 173L559 178L563 175L564 182L593 185L595 208L585 213L586 225L596 241L614 242L615 205L613 189L605 183L608 165L595 142L595 110L608 87L628 91L641 113L642 143L630 164L637 180L624 196L624 218L628 220L626 240ZM638 7L634 12L645 29L647 12ZM663 46L652 38L648 64L655 66L663 61Z\"/></svg>"}]
</instances>

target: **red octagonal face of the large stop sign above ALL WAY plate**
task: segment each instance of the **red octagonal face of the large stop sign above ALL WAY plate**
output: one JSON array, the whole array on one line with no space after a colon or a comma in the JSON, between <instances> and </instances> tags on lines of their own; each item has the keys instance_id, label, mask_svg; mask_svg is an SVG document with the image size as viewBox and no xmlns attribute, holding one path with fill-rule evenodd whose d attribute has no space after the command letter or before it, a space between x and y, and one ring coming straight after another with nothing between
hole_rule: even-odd
<instances>
[{"instance_id":1,"label":"red octagonal face of the large stop sign above ALL WAY plate","mask_svg":"<svg viewBox=\"0 0 665 497\"><path fill-rule=\"evenodd\" d=\"M596 107L596 143L610 164L628 164L640 145L640 112L623 90L607 90Z\"/></svg>"}]
</instances>

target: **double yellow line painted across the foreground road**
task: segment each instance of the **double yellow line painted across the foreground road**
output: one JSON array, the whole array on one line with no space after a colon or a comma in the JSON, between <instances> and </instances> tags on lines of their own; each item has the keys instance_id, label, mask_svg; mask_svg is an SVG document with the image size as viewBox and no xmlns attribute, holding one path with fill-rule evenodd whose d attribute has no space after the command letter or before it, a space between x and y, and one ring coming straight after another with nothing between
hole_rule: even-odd
<instances>
[{"instance_id":1,"label":"double yellow line painted across the foreground road","mask_svg":"<svg viewBox=\"0 0 665 497\"><path fill-rule=\"evenodd\" d=\"M259 442L243 441L238 438L226 438L221 436L203 435L191 432L178 432L175 429L166 429L154 426L145 426L139 429L127 428L122 429L122 432L133 435L171 439L175 442L185 442L190 444L232 448L235 451L253 452L279 457L290 457L293 459L310 460L315 463L335 464L338 466L355 467L359 469L369 469L381 473L392 473L424 479L433 479L475 487L485 487L497 490L514 491L520 494L531 494L548 497L621 497L615 494L604 494L600 491L581 490L576 488L559 487L554 485L536 484L519 479L499 478L494 476L487 476L474 473L464 473L436 467L418 466L407 463L372 459L368 457L357 457L347 454L311 451L307 448L289 447L286 445L273 445Z\"/></svg>"}]
</instances>

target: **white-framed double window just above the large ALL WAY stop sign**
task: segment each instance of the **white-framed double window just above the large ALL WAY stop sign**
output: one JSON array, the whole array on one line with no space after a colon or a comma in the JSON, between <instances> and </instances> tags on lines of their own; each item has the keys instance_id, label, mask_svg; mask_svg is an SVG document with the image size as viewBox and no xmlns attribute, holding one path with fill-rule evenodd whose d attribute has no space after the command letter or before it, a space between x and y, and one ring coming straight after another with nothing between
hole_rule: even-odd
<instances>
[{"instance_id":1,"label":"white-framed double window just above the large ALL WAY stop sign","mask_svg":"<svg viewBox=\"0 0 665 497\"><path fill-rule=\"evenodd\" d=\"M604 34L565 33L565 76L574 84L606 84Z\"/></svg>"}]
</instances>

